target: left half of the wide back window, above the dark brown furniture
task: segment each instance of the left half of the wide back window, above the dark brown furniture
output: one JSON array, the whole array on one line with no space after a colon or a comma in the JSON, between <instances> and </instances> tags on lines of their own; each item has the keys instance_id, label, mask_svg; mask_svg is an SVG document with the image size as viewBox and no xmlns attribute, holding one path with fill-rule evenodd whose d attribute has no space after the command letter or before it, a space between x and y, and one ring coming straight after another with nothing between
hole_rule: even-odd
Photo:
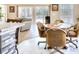
<instances>
[{"instance_id":1,"label":"left half of the wide back window, above the dark brown furniture","mask_svg":"<svg viewBox=\"0 0 79 59\"><path fill-rule=\"evenodd\" d=\"M19 18L31 18L32 17L32 7L18 7L18 17Z\"/></svg>"}]
</instances>

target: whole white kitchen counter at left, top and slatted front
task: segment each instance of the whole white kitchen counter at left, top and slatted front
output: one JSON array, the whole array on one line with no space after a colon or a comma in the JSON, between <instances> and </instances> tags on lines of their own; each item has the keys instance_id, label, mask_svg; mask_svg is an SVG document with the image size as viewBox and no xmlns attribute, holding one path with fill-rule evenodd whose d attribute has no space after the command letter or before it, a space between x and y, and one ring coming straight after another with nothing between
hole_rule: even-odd
<instances>
[{"instance_id":1,"label":"whole white kitchen counter at left, top and slatted front","mask_svg":"<svg viewBox=\"0 0 79 59\"><path fill-rule=\"evenodd\" d=\"M18 53L16 42L16 30L23 26L22 23L3 23L0 24L0 54Z\"/></svg>"}]
</instances>

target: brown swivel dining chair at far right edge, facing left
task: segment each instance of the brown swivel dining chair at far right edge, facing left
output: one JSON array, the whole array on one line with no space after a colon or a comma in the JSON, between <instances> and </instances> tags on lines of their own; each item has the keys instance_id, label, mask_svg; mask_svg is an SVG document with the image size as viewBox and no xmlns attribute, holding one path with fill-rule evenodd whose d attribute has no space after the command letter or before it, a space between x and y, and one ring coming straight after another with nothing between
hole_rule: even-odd
<instances>
[{"instance_id":1,"label":"brown swivel dining chair at far right edge, facing left","mask_svg":"<svg viewBox=\"0 0 79 59\"><path fill-rule=\"evenodd\" d=\"M71 29L73 28L73 29ZM78 46L74 43L74 41L78 42L78 33L79 33L79 24L74 25L73 27L71 27L68 32L67 32L67 36L70 39L67 39L70 43L72 43L73 45L75 45L76 48L78 48ZM76 38L75 40L73 40L73 38Z\"/></svg>"}]
</instances>

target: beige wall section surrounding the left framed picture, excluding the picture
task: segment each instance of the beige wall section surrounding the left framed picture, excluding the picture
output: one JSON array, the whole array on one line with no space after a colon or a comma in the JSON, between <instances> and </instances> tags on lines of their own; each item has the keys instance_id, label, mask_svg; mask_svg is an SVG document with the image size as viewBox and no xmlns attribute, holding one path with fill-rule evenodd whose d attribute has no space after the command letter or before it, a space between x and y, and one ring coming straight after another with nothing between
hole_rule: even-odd
<instances>
[{"instance_id":1,"label":"beige wall section surrounding the left framed picture, excluding the picture","mask_svg":"<svg viewBox=\"0 0 79 59\"><path fill-rule=\"evenodd\" d=\"M15 12L14 13L9 12L9 7L10 6L14 6L15 7ZM8 19L16 19L17 18L17 13L18 13L17 9L18 9L17 5L12 5L12 4L11 5L10 4L7 5L7 18Z\"/></svg>"}]
</instances>

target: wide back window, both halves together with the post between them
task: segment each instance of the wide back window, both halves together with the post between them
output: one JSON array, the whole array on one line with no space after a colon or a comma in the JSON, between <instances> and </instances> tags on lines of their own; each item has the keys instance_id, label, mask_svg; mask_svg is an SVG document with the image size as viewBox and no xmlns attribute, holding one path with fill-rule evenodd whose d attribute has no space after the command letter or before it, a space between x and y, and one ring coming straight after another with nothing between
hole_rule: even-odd
<instances>
[{"instance_id":1,"label":"wide back window, both halves together with the post between them","mask_svg":"<svg viewBox=\"0 0 79 59\"><path fill-rule=\"evenodd\" d=\"M19 18L32 18L33 22L44 22L47 15L49 15L48 5L18 6Z\"/></svg>"}]
</instances>

